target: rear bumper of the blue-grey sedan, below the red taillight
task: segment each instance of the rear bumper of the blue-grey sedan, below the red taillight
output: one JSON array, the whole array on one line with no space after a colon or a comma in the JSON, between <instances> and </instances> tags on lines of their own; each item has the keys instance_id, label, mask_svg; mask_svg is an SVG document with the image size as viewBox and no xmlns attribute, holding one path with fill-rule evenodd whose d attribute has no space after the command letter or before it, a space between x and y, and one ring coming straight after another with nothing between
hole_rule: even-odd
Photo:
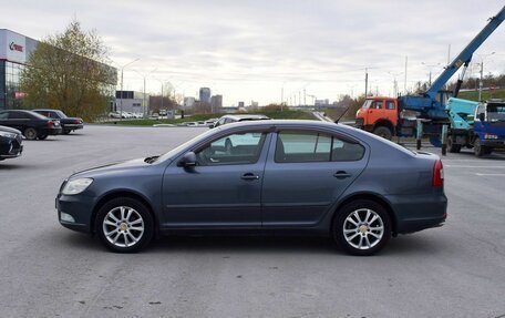
<instances>
[{"instance_id":1,"label":"rear bumper of the blue-grey sedan, below the red taillight","mask_svg":"<svg viewBox=\"0 0 505 318\"><path fill-rule=\"evenodd\" d=\"M406 234L442 226L447 217L447 197L439 195L393 195L387 199L394 211L396 233Z\"/></svg>"}]
</instances>

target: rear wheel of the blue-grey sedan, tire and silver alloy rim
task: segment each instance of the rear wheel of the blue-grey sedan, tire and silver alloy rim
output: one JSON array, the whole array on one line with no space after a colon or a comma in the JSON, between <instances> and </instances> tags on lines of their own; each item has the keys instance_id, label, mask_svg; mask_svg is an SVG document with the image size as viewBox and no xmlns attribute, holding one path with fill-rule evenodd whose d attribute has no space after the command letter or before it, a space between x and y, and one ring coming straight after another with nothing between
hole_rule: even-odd
<instances>
[{"instance_id":1,"label":"rear wheel of the blue-grey sedan, tire and silver alloy rim","mask_svg":"<svg viewBox=\"0 0 505 318\"><path fill-rule=\"evenodd\" d=\"M357 199L337 213L332 227L333 239L348 254L373 255L381 250L391 237L390 216L377 202Z\"/></svg>"}]
</instances>

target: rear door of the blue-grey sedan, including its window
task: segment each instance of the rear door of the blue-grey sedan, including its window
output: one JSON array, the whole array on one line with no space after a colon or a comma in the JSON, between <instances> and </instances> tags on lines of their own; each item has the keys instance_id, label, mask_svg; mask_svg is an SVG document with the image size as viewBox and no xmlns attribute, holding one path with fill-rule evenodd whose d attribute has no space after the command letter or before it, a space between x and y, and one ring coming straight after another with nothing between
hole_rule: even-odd
<instances>
[{"instance_id":1,"label":"rear door of the blue-grey sedan, including its window","mask_svg":"<svg viewBox=\"0 0 505 318\"><path fill-rule=\"evenodd\" d=\"M261 189L262 225L315 225L367 164L360 143L318 131L272 137Z\"/></svg>"}]
</instances>

